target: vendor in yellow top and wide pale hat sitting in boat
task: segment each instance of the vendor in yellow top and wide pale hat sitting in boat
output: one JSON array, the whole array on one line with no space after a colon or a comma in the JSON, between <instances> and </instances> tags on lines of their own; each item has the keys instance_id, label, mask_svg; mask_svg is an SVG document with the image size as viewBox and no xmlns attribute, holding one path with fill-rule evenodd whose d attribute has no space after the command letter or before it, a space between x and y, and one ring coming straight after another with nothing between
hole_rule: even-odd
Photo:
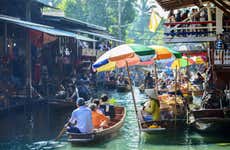
<instances>
[{"instance_id":1,"label":"vendor in yellow top and wide pale hat sitting in boat","mask_svg":"<svg viewBox=\"0 0 230 150\"><path fill-rule=\"evenodd\" d=\"M158 121L160 120L160 102L157 93L153 89L147 89L145 92L149 96L149 101L144 104L143 110L151 114L152 121Z\"/></svg>"}]
</instances>

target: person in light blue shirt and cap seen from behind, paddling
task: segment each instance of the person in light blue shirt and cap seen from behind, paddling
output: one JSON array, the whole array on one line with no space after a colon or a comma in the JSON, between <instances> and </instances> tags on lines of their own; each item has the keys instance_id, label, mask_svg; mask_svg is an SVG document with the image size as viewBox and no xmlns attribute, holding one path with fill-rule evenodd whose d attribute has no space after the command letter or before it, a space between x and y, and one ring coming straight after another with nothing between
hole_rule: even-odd
<instances>
[{"instance_id":1,"label":"person in light blue shirt and cap seen from behind, paddling","mask_svg":"<svg viewBox=\"0 0 230 150\"><path fill-rule=\"evenodd\" d=\"M92 112L85 105L83 98L77 99L77 109L72 112L69 122L66 124L68 132L91 133L93 130Z\"/></svg>"}]
</instances>

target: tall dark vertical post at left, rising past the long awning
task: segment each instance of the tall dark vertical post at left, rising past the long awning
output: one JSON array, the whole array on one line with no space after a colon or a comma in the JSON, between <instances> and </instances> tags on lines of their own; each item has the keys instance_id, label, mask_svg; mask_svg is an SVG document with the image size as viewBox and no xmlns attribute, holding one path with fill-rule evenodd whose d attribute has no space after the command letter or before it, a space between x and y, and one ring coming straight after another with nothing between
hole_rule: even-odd
<instances>
[{"instance_id":1,"label":"tall dark vertical post at left, rising past the long awning","mask_svg":"<svg viewBox=\"0 0 230 150\"><path fill-rule=\"evenodd\" d=\"M31 1L26 3L26 20L31 20ZM32 98L32 68L31 68L31 39L30 30L26 29L26 89L27 96Z\"/></svg>"}]
</instances>

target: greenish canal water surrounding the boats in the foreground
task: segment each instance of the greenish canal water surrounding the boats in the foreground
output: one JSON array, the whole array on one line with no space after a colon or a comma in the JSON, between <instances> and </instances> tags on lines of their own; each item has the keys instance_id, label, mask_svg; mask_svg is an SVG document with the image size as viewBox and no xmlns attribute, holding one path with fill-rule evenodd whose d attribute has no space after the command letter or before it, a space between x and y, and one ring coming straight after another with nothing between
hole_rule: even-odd
<instances>
[{"instance_id":1,"label":"greenish canal water surrounding the boats in the foreground","mask_svg":"<svg viewBox=\"0 0 230 150\"><path fill-rule=\"evenodd\" d=\"M0 150L228 150L230 136L201 134L183 129L179 132L147 135L139 134L131 93L107 92L117 104L127 108L124 126L113 139L103 143L72 146L63 136L54 141L62 129L71 109L51 107L45 104L25 108L0 116ZM135 89L138 105L146 100L144 94Z\"/></svg>"}]
</instances>

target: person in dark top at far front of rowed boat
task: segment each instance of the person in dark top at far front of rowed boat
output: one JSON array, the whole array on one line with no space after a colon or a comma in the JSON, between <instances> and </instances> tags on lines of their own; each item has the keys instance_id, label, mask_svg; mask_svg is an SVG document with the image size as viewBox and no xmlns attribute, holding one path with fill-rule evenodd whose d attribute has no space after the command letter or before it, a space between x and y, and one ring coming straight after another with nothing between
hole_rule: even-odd
<instances>
[{"instance_id":1,"label":"person in dark top at far front of rowed boat","mask_svg":"<svg viewBox=\"0 0 230 150\"><path fill-rule=\"evenodd\" d=\"M109 97L106 94L101 96L100 110L102 110L105 116L109 116L110 119L115 117L114 106L108 103Z\"/></svg>"}]
</instances>

